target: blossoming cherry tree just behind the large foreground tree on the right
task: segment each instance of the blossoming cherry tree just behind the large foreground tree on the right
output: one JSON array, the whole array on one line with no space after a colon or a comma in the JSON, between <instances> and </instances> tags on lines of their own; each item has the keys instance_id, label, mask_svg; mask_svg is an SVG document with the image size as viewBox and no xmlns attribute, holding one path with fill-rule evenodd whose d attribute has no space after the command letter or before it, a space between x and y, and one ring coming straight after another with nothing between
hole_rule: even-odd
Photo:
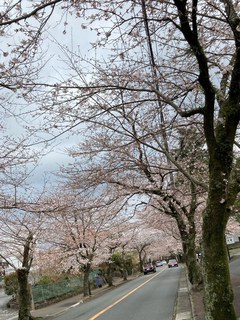
<instances>
[{"instance_id":1,"label":"blossoming cherry tree just behind the large foreground tree on the right","mask_svg":"<svg viewBox=\"0 0 240 320\"><path fill-rule=\"evenodd\" d=\"M144 12L144 8L140 8ZM147 40L146 45L149 45L150 39L147 38ZM81 67L78 69L74 61L81 59L81 57L69 52L68 50L63 49L63 51L65 52L67 59L69 59L68 63L73 69L72 72L76 74L75 78L78 79L79 75L83 74L83 70L81 70ZM128 61L128 57L126 59ZM189 261L187 265L192 266L189 268L189 278L194 284L197 284L199 281L199 272L196 271L197 267L194 267L196 265L194 248L194 213L196 210L195 197L197 192L202 193L203 190L207 189L207 186L200 180L195 179L193 172L194 170L195 173L197 172L196 168L199 169L198 172L204 172L202 167L205 166L202 166L201 161L199 161L200 157L196 158L196 145L199 143L199 137L201 137L203 133L200 126L194 130L195 122L193 124L188 124L185 120L181 121L178 119L178 122L174 122L174 124L172 124L172 114L170 113L170 116L168 115L166 106L163 106L163 101L159 98L159 95L153 91L153 97L149 96L150 92L152 92L152 88L148 90L139 90L135 89L135 87L133 87L133 89L127 88L124 85L124 82L127 79L127 74L129 75L129 69L135 68L136 65L130 65L129 60L127 63L128 69L126 69L126 59L123 59L123 62L117 61L112 70L110 72L108 71L109 79L107 85L98 85L94 82L87 83L87 78L80 76L80 84L72 83L72 79L63 83L55 83L53 86L56 87L56 89L54 89L53 92L50 92L50 96L40 96L39 99L44 101L45 111L54 110L55 112L53 114L57 114L58 125L56 125L56 118L53 117L52 126L59 126L60 131L63 126L66 128L68 124L69 128L73 128L83 122L89 123L88 129L90 137L85 140L84 146L81 144L80 147L80 149L84 149L84 151L79 152L76 149L72 152L73 156L82 155L86 157L89 155L91 161L93 160L91 167L88 164L88 169L86 169L85 166L85 169L81 170L81 172L85 172L87 175L87 178L85 175L81 180L87 181L90 184L99 181L99 183L107 182L122 185L123 188L128 187L130 190L135 189L134 192L145 192L152 196L160 196L164 199L165 203L169 202L171 206L171 214L176 217L179 229L182 230L181 235L183 237L184 248L189 246L189 250L185 249L185 253L187 253L188 256L191 255L191 258L187 259L187 261ZM143 57L140 59L140 64L142 63L142 59ZM154 62L154 57L150 54L148 55L148 60L151 65ZM86 61L84 62L86 63ZM122 73L118 76L121 84L115 85L114 81L116 79L116 72L118 69L122 69ZM156 70L154 68L146 70L145 72L149 79L154 79L156 76ZM95 74L98 77L96 79L96 83L99 83L99 79L102 83L106 81L106 71L103 67L97 65ZM131 74L134 74L134 72ZM130 80L134 86L137 86L140 81L139 75L134 75L133 79ZM81 96L81 90L85 92L86 89L88 91L87 96L85 96L84 93ZM72 109L69 109L69 103L72 101L72 95L75 91L80 91L79 99L85 103L86 107L88 107L85 108L84 113L80 112L79 114L74 106ZM111 91L111 101L109 101L106 91L107 95L108 91ZM127 94L124 93L125 91ZM78 93L76 94L78 95ZM98 98L92 99L94 95L98 96ZM101 99L99 99L100 95ZM87 97L90 97L90 99L87 99ZM56 101L54 99L56 99ZM59 103L61 104L60 109L58 109ZM108 107L106 107L106 104ZM145 110L143 109L143 106ZM76 112L74 111L75 109ZM151 125L146 127L146 121L149 121L149 124L151 123ZM164 130L166 125L168 125L168 131ZM189 129L181 129L183 126L189 126ZM96 128L99 128L98 131ZM84 133L81 132L81 134L85 134L85 126L83 130ZM94 131L96 133L95 136L91 135ZM113 132L112 139L107 143L110 131ZM188 146L186 143L187 137L190 140L190 134L198 135L198 138L195 140L195 146L192 150L190 150L190 143L188 143ZM126 143L122 143L123 141L126 141ZM193 142L193 139L191 139L191 142ZM202 144L203 142L201 141L201 145ZM117 145L119 148L118 150L116 148ZM106 155L102 153L102 150L105 148ZM99 158L99 154L101 153L103 156ZM138 179L134 177L126 180L123 178L122 172L122 176L119 175L119 172L117 172L118 166L116 165L116 163L119 162L119 153L122 154L122 166L124 165L129 168L127 162L135 163L136 170L138 170L145 179L145 188L142 188L142 181L140 182L140 177L138 177ZM203 150L201 150L198 155L200 154L206 157ZM102 166L99 165L101 159L103 159L103 162L108 163L107 167L104 164L102 164ZM185 160L184 165L183 159ZM90 163L89 158L87 160L81 158L81 161L78 163L79 168L82 168L83 161ZM194 162L194 165L189 167L189 163L191 162ZM156 170L157 166L161 167L160 174L158 173L159 168ZM72 172L76 172L77 170L78 169L73 168ZM182 178L179 178L179 176L175 174L177 170L180 170ZM129 175L130 171L131 170L128 169L125 170L125 174ZM111 175L109 172L111 172ZM117 175L117 178L114 177L113 172ZM137 173L137 176L139 175L139 172ZM157 178L158 174L160 175L159 178ZM133 176L132 172L131 175ZM119 177L122 177L124 182L122 182ZM175 179L182 181L183 178L185 181L188 181L188 192L192 194L192 204L189 211L185 208L185 212L184 210L180 212L181 210L179 210L179 208L182 203L179 202L177 197L172 194L169 195L168 190L172 187L175 189L176 183L174 182L173 186L171 186L172 181ZM92 181L90 181L91 179ZM132 183L133 181L134 183ZM149 188L150 184L151 187ZM163 186L164 191L162 191ZM178 182L178 187L183 188L183 185L180 186L180 183ZM166 194L168 195L167 197ZM179 218L181 214L187 216L187 219ZM189 223L191 227L188 228L184 226L183 222ZM187 229L192 232L191 236L185 232Z\"/></svg>"}]
</instances>

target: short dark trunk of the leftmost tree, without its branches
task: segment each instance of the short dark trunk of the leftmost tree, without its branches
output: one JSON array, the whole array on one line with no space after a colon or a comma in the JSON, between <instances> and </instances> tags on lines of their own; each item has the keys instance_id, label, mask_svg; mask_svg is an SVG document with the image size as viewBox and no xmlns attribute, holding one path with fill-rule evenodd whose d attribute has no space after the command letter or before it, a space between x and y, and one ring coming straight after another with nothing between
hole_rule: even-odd
<instances>
[{"instance_id":1,"label":"short dark trunk of the leftmost tree, without its branches","mask_svg":"<svg viewBox=\"0 0 240 320\"><path fill-rule=\"evenodd\" d=\"M22 268L17 270L19 284L19 312L18 320L32 320L31 310L31 293L28 284L28 270Z\"/></svg>"}]
</instances>

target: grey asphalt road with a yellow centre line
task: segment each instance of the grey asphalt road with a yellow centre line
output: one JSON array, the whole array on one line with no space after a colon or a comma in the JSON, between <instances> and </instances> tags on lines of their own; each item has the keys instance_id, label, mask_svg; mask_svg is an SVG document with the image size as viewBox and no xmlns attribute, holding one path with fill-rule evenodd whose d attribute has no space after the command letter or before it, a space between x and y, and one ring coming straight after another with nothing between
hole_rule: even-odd
<instances>
[{"instance_id":1,"label":"grey asphalt road with a yellow centre line","mask_svg":"<svg viewBox=\"0 0 240 320\"><path fill-rule=\"evenodd\" d=\"M52 319L172 320L180 271L180 267L160 267Z\"/></svg>"}]
</instances>

